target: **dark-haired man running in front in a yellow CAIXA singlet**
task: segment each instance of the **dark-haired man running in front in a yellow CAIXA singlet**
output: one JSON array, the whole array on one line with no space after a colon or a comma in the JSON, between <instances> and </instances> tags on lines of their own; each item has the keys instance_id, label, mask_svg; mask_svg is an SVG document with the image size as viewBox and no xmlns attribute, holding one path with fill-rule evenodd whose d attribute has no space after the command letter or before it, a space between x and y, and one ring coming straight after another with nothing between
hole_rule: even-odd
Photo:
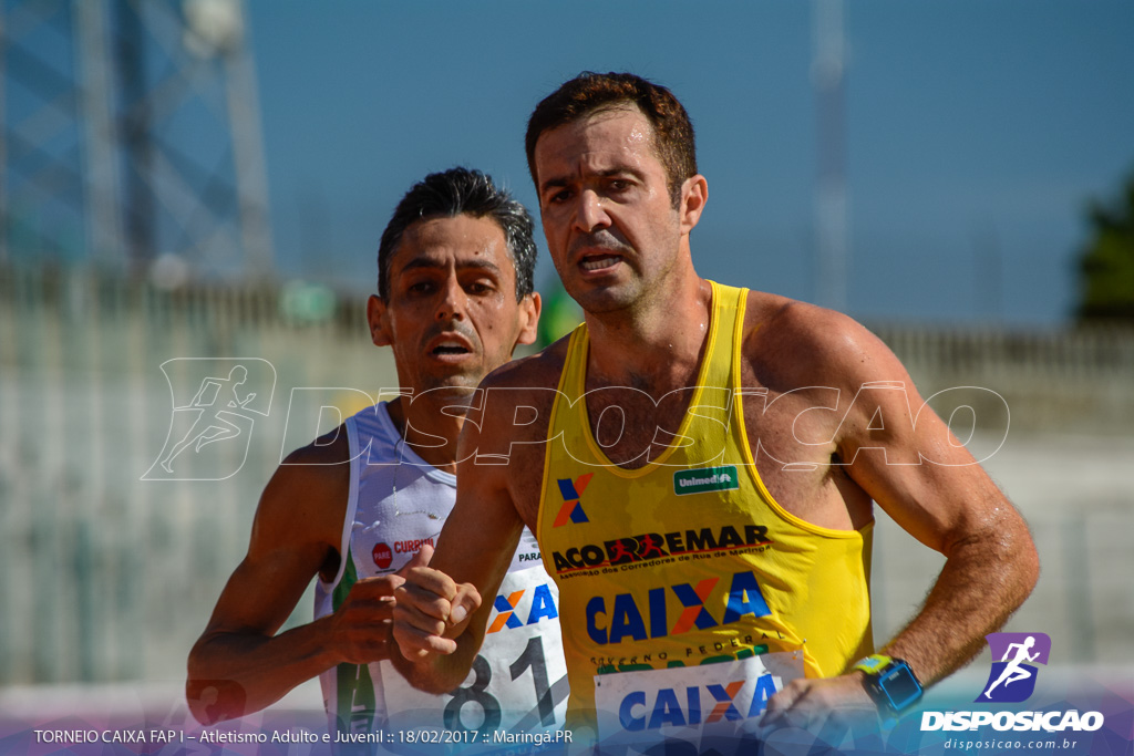
<instances>
[{"instance_id":1,"label":"dark-haired man running in front in a yellow CAIXA singlet","mask_svg":"<svg viewBox=\"0 0 1134 756\"><path fill-rule=\"evenodd\" d=\"M576 722L604 672L802 652L775 722L874 705L880 669L926 686L971 659L1034 585L1026 526L862 325L697 277L708 185L680 103L584 74L526 146L585 323L482 383L454 513L397 592L407 677L463 678L524 525L560 585ZM947 562L864 672L874 502Z\"/></svg>"}]
</instances>

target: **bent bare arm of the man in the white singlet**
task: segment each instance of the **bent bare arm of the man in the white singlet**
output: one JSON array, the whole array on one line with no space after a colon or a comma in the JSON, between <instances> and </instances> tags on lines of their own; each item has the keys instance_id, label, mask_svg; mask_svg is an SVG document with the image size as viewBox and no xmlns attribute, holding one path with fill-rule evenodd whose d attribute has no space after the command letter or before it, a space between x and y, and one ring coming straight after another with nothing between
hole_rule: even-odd
<instances>
[{"instance_id":1,"label":"bent bare arm of the man in the white singlet","mask_svg":"<svg viewBox=\"0 0 1134 756\"><path fill-rule=\"evenodd\" d=\"M339 662L388 655L393 577L359 580L335 614L276 635L312 577L338 564L349 466L328 462L347 459L345 435L294 452L265 487L247 555L189 652L186 697L198 721L242 716Z\"/></svg>"}]
</instances>

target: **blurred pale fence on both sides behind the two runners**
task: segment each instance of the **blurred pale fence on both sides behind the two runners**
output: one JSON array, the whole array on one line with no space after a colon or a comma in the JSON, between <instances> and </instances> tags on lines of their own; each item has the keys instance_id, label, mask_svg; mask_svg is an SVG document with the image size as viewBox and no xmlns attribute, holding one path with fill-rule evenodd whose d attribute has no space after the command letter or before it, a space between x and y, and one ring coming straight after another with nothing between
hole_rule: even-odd
<instances>
[{"instance_id":1,"label":"blurred pale fence on both sides behind the two runners","mask_svg":"<svg viewBox=\"0 0 1134 756\"><path fill-rule=\"evenodd\" d=\"M350 411L363 401L358 391L395 385L388 350L370 343L362 301L339 298L318 317L297 317L282 301L268 288L167 291L82 271L0 269L0 685L184 673L281 452L336 421L308 414L285 439L291 389L337 388L328 401ZM875 331L924 396L951 385L993 389L1012 407L1013 432L1040 440L992 466L1017 489L1009 492L1043 542L1043 595L1027 617L1053 621L1042 608L1058 606L1068 638L1091 632L1082 661L1134 661L1125 640L1134 636L1125 578L1134 559L1116 535L1134 526L1128 476L1116 469L1134 449L1134 335ZM255 392L270 399L266 415L247 415L246 459L239 444L214 444L211 457L167 455L176 474L156 467L194 432L175 411L204 385L186 358L211 359L220 383L229 364L221 358L272 366L274 387L264 373L234 394L246 397L259 380ZM171 396L163 369L188 393ZM1078 467L1066 479L1036 476L1060 469L1066 455L1043 439L1067 432L1067 423L1102 441L1068 462ZM1106 441L1115 435L1122 443ZM181 479L210 476L225 479ZM1065 507L1060 482L1075 492ZM1073 520L1081 527L1068 527ZM911 541L880 528L880 636L913 611L939 564L902 537ZM304 602L293 621L307 617Z\"/></svg>"}]
</instances>

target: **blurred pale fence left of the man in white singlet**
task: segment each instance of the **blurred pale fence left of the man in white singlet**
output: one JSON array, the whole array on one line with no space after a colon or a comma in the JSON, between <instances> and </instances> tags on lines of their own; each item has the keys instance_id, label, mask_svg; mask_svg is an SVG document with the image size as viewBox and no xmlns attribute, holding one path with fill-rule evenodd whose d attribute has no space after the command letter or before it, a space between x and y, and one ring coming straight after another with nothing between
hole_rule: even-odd
<instances>
[{"instance_id":1,"label":"blurred pale fence left of the man in white singlet","mask_svg":"<svg viewBox=\"0 0 1134 756\"><path fill-rule=\"evenodd\" d=\"M163 363L218 357L277 374L247 459L215 444L229 449L205 468L184 472L184 455L178 475L143 481L180 432ZM0 271L0 683L183 674L280 460L291 388L395 382L357 299L298 324L269 289Z\"/></svg>"}]
</instances>

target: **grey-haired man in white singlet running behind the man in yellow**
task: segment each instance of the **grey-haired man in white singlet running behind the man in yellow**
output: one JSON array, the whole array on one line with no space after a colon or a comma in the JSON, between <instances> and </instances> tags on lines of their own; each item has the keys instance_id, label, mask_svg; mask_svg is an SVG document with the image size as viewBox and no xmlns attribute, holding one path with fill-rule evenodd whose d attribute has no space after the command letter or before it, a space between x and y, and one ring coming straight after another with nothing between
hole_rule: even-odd
<instances>
[{"instance_id":1,"label":"grey-haired man in white singlet running behind the man in yellow","mask_svg":"<svg viewBox=\"0 0 1134 756\"><path fill-rule=\"evenodd\" d=\"M268 484L248 553L189 654L200 721L257 711L319 674L340 742L562 724L558 593L530 533L463 685L423 694L387 661L398 570L428 563L452 508L473 391L534 339L534 263L530 215L488 176L433 173L399 203L367 320L374 343L393 349L400 396L293 452ZM315 621L277 635L316 575Z\"/></svg>"}]
</instances>

